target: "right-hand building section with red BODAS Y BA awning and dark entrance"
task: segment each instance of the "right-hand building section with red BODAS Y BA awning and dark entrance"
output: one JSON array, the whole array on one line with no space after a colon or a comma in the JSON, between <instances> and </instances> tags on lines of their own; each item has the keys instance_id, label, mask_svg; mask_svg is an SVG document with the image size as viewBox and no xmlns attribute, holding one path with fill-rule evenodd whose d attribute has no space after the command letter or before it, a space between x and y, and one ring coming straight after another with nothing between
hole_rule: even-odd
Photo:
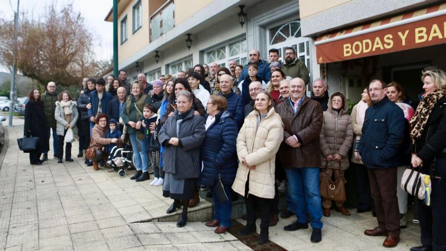
<instances>
[{"instance_id":1,"label":"right-hand building section with red BODAS Y BA awning and dark entrance","mask_svg":"<svg viewBox=\"0 0 446 251\"><path fill-rule=\"evenodd\" d=\"M322 4L323 2L323 4ZM315 51L329 91L352 101L370 80L402 84L414 105L423 92L421 71L446 69L446 4L420 0L300 0L302 35Z\"/></svg>"}]
</instances>

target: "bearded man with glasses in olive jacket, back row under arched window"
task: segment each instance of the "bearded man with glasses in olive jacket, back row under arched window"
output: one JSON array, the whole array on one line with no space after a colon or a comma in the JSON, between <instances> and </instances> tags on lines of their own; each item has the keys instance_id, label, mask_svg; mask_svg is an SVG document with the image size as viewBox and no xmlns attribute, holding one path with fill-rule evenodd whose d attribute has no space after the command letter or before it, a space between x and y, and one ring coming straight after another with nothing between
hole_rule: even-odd
<instances>
[{"instance_id":1,"label":"bearded man with glasses in olive jacket, back row under arched window","mask_svg":"<svg viewBox=\"0 0 446 251\"><path fill-rule=\"evenodd\" d=\"M291 78L301 78L305 84L310 82L307 66L296 57L296 51L292 47L285 49L285 63L283 64L283 73Z\"/></svg>"}]
</instances>

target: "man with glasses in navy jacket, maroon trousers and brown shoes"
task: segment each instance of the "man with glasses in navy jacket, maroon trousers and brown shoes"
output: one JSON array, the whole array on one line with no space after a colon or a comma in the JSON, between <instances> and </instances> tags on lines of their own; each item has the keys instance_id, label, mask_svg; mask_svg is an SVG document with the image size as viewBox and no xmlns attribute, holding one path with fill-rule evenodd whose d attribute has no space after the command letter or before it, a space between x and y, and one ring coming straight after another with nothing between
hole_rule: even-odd
<instances>
[{"instance_id":1,"label":"man with glasses in navy jacket, maroon trousers and brown shoes","mask_svg":"<svg viewBox=\"0 0 446 251\"><path fill-rule=\"evenodd\" d=\"M365 230L368 236L387 236L385 247L399 242L399 209L396 196L398 148L404 137L404 114L387 98L386 84L372 80L368 86L371 102L365 111L359 141L359 159L367 167L371 197L375 202L378 227Z\"/></svg>"}]
</instances>

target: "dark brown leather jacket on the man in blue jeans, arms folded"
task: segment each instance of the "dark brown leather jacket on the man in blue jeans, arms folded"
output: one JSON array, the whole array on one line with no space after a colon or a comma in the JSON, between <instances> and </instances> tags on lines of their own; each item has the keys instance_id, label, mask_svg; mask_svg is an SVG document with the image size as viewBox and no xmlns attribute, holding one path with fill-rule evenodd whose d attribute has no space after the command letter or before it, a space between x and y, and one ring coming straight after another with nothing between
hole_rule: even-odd
<instances>
[{"instance_id":1,"label":"dark brown leather jacket on the man in blue jeans, arms folded","mask_svg":"<svg viewBox=\"0 0 446 251\"><path fill-rule=\"evenodd\" d=\"M301 147L292 148L282 144L280 161L284 168L320 167L320 131L322 129L322 109L316 100L305 97L301 107L294 114L287 98L276 106L277 113L282 117L284 132L282 139L295 135L301 142Z\"/></svg>"}]
</instances>

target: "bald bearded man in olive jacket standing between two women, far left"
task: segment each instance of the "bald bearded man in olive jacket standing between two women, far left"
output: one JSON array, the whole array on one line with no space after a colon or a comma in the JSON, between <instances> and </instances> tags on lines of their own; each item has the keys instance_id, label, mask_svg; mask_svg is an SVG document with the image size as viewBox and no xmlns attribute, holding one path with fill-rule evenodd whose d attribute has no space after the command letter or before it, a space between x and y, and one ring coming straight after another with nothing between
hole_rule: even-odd
<instances>
[{"instance_id":1,"label":"bald bearded man in olive jacket standing between two women, far left","mask_svg":"<svg viewBox=\"0 0 446 251\"><path fill-rule=\"evenodd\" d=\"M47 118L48 122L48 140L50 139L51 130L53 131L53 158L58 159L57 156L57 133L56 133L56 119L54 117L54 113L56 111L56 101L59 101L59 93L56 91L56 83L49 82L47 84L47 90L44 94L42 94L41 98L42 102L44 103L44 110L45 110L45 117ZM42 161L48 160L48 151L44 152Z\"/></svg>"}]
</instances>

